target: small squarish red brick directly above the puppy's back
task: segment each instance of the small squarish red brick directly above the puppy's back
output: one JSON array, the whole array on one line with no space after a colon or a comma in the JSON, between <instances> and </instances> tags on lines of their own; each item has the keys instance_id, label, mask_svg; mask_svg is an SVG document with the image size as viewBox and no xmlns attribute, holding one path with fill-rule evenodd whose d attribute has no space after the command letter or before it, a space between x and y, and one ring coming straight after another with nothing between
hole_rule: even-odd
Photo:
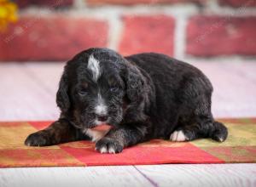
<instances>
[{"instance_id":1,"label":"small squarish red brick directly above the puppy's back","mask_svg":"<svg viewBox=\"0 0 256 187\"><path fill-rule=\"evenodd\" d=\"M173 54L174 19L164 15L126 16L119 43L121 54L159 52Z\"/></svg>"}]
</instances>

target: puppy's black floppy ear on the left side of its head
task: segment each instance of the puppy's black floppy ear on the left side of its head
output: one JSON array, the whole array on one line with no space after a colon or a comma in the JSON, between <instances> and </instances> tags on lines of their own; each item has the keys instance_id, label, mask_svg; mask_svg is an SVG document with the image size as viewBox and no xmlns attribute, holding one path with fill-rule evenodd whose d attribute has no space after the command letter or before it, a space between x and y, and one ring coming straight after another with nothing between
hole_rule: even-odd
<instances>
[{"instance_id":1,"label":"puppy's black floppy ear on the left side of its head","mask_svg":"<svg viewBox=\"0 0 256 187\"><path fill-rule=\"evenodd\" d=\"M67 73L64 71L59 82L59 89L56 94L56 103L62 112L68 111L70 100L68 96Z\"/></svg>"}]
</instances>

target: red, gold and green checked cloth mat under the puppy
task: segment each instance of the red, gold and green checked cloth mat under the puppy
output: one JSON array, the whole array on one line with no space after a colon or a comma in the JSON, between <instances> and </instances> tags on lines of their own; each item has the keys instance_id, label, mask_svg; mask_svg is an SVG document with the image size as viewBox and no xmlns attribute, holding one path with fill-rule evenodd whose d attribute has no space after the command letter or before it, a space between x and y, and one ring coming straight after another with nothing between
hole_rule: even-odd
<instances>
[{"instance_id":1,"label":"red, gold and green checked cloth mat under the puppy","mask_svg":"<svg viewBox=\"0 0 256 187\"><path fill-rule=\"evenodd\" d=\"M100 154L90 141L28 147L24 145L26 136L50 122L0 122L0 167L256 162L256 119L221 121L229 128L224 143L212 139L185 143L153 139L115 155Z\"/></svg>"}]
</instances>

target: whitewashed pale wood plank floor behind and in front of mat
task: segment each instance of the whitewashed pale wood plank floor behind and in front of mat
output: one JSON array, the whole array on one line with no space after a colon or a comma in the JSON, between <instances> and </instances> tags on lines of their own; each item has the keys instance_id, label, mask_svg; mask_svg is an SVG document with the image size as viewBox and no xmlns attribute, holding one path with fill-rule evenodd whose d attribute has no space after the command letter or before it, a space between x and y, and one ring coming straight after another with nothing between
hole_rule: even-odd
<instances>
[{"instance_id":1,"label":"whitewashed pale wood plank floor behind and in front of mat","mask_svg":"<svg viewBox=\"0 0 256 187\"><path fill-rule=\"evenodd\" d=\"M0 120L55 120L62 63L0 63ZM216 117L256 116L256 64L195 63L211 79ZM256 164L0 169L5 186L256 186Z\"/></svg>"}]
</instances>

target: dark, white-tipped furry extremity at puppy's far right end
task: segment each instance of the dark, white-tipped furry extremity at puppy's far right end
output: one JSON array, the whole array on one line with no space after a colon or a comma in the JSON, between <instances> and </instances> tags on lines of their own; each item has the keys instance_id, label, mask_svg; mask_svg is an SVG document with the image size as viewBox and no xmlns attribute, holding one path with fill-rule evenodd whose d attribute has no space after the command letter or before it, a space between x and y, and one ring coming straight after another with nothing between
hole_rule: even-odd
<instances>
[{"instance_id":1,"label":"dark, white-tipped furry extremity at puppy's far right end","mask_svg":"<svg viewBox=\"0 0 256 187\"><path fill-rule=\"evenodd\" d=\"M224 142L228 137L228 129L221 122L213 122L213 128L211 133L211 139L218 142Z\"/></svg>"}]
</instances>

